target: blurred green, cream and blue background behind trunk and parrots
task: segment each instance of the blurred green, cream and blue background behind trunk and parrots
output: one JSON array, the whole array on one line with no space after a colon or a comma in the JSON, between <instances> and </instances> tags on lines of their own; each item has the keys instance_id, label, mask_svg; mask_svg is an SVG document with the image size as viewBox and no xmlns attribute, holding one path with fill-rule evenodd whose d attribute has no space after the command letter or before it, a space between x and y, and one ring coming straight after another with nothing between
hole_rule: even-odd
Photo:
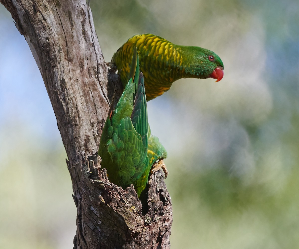
<instances>
[{"instance_id":1,"label":"blurred green, cream and blue background behind trunk and parrots","mask_svg":"<svg viewBox=\"0 0 299 249\"><path fill-rule=\"evenodd\" d=\"M299 2L91 1L106 61L154 33L208 48L224 78L148 102L168 151L172 248L299 248ZM72 248L76 208L42 77L0 5L0 248Z\"/></svg>"}]
</instances>

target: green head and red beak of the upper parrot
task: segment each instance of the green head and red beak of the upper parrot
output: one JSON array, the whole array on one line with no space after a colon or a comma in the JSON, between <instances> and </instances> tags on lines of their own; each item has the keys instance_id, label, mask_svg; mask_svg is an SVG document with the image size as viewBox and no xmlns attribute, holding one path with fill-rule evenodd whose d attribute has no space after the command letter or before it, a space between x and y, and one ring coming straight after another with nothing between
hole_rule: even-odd
<instances>
[{"instance_id":1,"label":"green head and red beak of the upper parrot","mask_svg":"<svg viewBox=\"0 0 299 249\"><path fill-rule=\"evenodd\" d=\"M223 62L217 54L205 48L184 47L185 73L191 78L213 78L220 81L223 78Z\"/></svg>"}]
</instances>

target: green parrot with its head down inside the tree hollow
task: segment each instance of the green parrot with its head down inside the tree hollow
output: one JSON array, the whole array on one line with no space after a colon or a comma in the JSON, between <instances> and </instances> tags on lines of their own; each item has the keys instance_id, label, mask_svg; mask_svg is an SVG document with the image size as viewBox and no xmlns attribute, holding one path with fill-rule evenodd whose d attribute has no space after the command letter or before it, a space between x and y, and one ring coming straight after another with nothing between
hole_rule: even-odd
<instances>
[{"instance_id":1,"label":"green parrot with its head down inside the tree hollow","mask_svg":"<svg viewBox=\"0 0 299 249\"><path fill-rule=\"evenodd\" d=\"M139 74L136 47L130 68L128 83L114 111L115 93L113 95L98 155L102 158L101 167L107 169L109 181L122 188L133 184L140 198L149 172L155 173L162 168L167 176L163 161L167 152L149 129L144 77Z\"/></svg>"}]
</instances>

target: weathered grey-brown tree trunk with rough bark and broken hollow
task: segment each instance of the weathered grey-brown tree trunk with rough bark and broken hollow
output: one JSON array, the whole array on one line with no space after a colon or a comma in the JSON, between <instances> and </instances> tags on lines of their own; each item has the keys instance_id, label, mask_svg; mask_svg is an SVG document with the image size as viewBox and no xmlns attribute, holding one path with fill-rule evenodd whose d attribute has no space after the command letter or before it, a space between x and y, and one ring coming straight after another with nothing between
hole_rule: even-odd
<instances>
[{"instance_id":1,"label":"weathered grey-brown tree trunk with rough bark and broken hollow","mask_svg":"<svg viewBox=\"0 0 299 249\"><path fill-rule=\"evenodd\" d=\"M100 169L112 87L86 1L0 2L28 42L57 118L77 206L74 248L170 248L171 200L161 174L150 178L143 215L132 185L122 190Z\"/></svg>"}]
</instances>

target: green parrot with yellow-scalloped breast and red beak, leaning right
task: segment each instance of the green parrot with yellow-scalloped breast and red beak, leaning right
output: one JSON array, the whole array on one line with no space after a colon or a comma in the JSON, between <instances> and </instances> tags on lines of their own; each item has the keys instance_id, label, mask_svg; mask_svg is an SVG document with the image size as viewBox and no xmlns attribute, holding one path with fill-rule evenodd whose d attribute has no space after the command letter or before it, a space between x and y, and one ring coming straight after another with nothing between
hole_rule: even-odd
<instances>
[{"instance_id":1,"label":"green parrot with yellow-scalloped breast and red beak, leaning right","mask_svg":"<svg viewBox=\"0 0 299 249\"><path fill-rule=\"evenodd\" d=\"M140 71L144 75L147 101L168 91L172 83L181 78L213 78L217 82L223 77L223 63L214 52L200 47L175 45L153 34L142 34L131 37L123 44L108 64L111 71L121 69L123 87L135 46Z\"/></svg>"}]
</instances>

